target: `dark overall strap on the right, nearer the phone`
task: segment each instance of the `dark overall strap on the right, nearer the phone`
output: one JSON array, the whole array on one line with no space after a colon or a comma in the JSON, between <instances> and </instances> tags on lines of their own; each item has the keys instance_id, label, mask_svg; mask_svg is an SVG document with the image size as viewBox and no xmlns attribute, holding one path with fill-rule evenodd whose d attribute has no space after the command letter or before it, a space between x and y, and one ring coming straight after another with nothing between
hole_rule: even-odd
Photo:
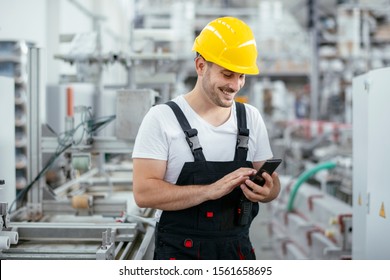
<instances>
[{"instance_id":1,"label":"dark overall strap on the right, nearer the phone","mask_svg":"<svg viewBox=\"0 0 390 280\"><path fill-rule=\"evenodd\" d=\"M246 112L245 105L243 103L236 102L237 112L237 145L236 154L234 160L246 160L248 154L248 142L249 142L249 129L246 125Z\"/></svg>"}]
</instances>

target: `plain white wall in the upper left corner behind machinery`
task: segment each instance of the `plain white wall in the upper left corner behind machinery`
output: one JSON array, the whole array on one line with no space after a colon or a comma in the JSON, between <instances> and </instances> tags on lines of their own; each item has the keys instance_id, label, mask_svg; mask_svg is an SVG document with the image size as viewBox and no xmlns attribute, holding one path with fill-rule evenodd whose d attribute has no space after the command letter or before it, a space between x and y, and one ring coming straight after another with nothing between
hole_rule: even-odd
<instances>
[{"instance_id":1,"label":"plain white wall in the upper left corner behind machinery","mask_svg":"<svg viewBox=\"0 0 390 280\"><path fill-rule=\"evenodd\" d=\"M103 52L128 50L133 1L77 0L88 11L106 18L102 25ZM68 0L0 0L0 40L28 40L42 47L47 55L44 68L48 84L57 84L62 73L76 71L74 66L53 58L54 54L63 54L69 49L59 43L59 35L92 31L91 18ZM105 83L124 82L126 75L122 66L105 69Z\"/></svg>"}]
</instances>

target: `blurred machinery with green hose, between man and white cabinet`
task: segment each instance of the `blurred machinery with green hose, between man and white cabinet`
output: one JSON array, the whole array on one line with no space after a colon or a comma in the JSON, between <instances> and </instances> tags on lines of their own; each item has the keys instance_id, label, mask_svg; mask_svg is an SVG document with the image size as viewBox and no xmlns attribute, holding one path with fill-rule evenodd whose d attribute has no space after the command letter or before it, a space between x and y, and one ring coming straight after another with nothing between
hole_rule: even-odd
<instances>
[{"instance_id":1,"label":"blurred machinery with green hose, between man and white cabinet","mask_svg":"<svg viewBox=\"0 0 390 280\"><path fill-rule=\"evenodd\" d=\"M305 119L278 125L283 134L271 143L284 159L281 193L265 205L275 257L352 259L351 125Z\"/></svg>"}]
</instances>

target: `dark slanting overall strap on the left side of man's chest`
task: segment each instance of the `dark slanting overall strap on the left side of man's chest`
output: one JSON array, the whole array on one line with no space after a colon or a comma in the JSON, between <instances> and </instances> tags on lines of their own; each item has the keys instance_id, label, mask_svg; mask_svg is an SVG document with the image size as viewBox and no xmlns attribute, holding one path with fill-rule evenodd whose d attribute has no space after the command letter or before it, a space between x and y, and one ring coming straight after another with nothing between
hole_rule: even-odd
<instances>
[{"instance_id":1,"label":"dark slanting overall strap on the left side of man's chest","mask_svg":"<svg viewBox=\"0 0 390 280\"><path fill-rule=\"evenodd\" d=\"M183 111L180 109L180 107L175 102L168 101L165 104L167 104L169 107L171 107L171 109L175 113L175 116L176 116L181 128L184 131L184 134L186 136L187 143L190 146L191 152L194 155L194 160L195 161L206 161L206 158L203 155L202 146L200 145L200 142L199 142L198 131L195 128L191 128Z\"/></svg>"}]
</instances>

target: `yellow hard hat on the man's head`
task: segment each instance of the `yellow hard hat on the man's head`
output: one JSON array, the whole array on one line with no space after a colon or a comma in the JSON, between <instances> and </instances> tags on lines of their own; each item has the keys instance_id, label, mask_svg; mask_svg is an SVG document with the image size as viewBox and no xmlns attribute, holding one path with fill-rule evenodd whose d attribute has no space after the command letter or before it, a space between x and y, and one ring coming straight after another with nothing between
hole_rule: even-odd
<instances>
[{"instance_id":1,"label":"yellow hard hat on the man's head","mask_svg":"<svg viewBox=\"0 0 390 280\"><path fill-rule=\"evenodd\" d=\"M258 74L257 47L250 27L234 17L208 23L194 41L193 51L230 71Z\"/></svg>"}]
</instances>

